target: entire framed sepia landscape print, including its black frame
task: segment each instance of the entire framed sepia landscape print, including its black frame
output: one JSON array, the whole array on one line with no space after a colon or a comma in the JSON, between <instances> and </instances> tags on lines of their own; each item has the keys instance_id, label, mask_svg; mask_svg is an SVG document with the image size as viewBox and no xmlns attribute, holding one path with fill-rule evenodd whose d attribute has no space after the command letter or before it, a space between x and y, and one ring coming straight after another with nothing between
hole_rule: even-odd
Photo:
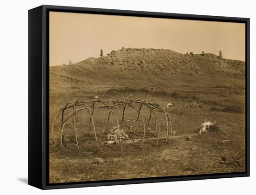
<instances>
[{"instance_id":1,"label":"entire framed sepia landscape print, including its black frame","mask_svg":"<svg viewBox=\"0 0 256 195\"><path fill-rule=\"evenodd\" d=\"M28 11L28 184L249 176L249 19Z\"/></svg>"}]
</instances>

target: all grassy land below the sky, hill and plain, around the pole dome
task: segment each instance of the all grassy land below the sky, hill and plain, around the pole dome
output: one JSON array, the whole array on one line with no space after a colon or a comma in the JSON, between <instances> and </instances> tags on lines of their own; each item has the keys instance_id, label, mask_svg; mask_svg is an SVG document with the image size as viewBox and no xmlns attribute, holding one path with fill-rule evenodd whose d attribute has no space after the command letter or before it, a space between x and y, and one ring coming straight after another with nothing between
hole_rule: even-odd
<instances>
[{"instance_id":1,"label":"all grassy land below the sky, hill and plain, around the pole dome","mask_svg":"<svg viewBox=\"0 0 256 195\"><path fill-rule=\"evenodd\" d=\"M63 148L54 145L49 135L50 183L245 171L245 62L210 53L184 55L164 49L126 48L102 58L51 66L49 73L49 126L67 103L93 100L94 95L101 100L122 100L136 92L128 99L145 101L149 96L148 102L165 108L168 103L175 104L166 109L176 131L171 142L164 144L166 119L156 112L159 144L155 146L155 123L151 120L151 131L147 131L141 149L141 118L136 122L136 111L128 108L123 130L134 142L123 146L121 156L119 146L104 145L108 108L95 109L93 115L100 151L90 135L88 112L81 111L75 116L79 151L72 120L64 129ZM200 108L184 107L190 101L196 101ZM139 105L134 106L138 109ZM122 110L123 106L114 108L119 121ZM142 115L147 122L149 110L143 107ZM205 121L216 121L219 131L198 135ZM111 117L109 127L115 125ZM135 134L128 129L134 125ZM57 120L54 138L58 144L60 135ZM101 158L100 162L95 158Z\"/></svg>"}]
</instances>

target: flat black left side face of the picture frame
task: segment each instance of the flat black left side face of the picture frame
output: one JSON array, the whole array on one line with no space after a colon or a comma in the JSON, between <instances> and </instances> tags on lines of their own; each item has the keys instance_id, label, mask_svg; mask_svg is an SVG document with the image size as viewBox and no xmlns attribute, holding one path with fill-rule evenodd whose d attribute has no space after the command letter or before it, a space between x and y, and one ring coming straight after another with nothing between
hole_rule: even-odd
<instances>
[{"instance_id":1,"label":"flat black left side face of the picture frame","mask_svg":"<svg viewBox=\"0 0 256 195\"><path fill-rule=\"evenodd\" d=\"M42 19L42 6L28 11L28 185L40 189L43 188Z\"/></svg>"}]
</instances>

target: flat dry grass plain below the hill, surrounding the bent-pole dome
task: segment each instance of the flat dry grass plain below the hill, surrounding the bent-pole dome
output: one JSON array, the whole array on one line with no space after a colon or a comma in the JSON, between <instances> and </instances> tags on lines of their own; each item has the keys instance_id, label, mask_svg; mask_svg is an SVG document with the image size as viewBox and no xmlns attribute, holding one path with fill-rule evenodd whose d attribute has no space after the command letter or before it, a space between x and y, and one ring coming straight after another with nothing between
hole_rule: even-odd
<instances>
[{"instance_id":1,"label":"flat dry grass plain below the hill, surrounding the bent-pole dome","mask_svg":"<svg viewBox=\"0 0 256 195\"><path fill-rule=\"evenodd\" d=\"M209 78L205 79L207 82L191 79L191 82L187 81L187 84L184 82L183 85L177 80L177 83L170 85L169 88L163 88L162 91L138 89L124 91L119 88L115 90L116 93L112 93L111 97L103 97L101 92L109 88L106 89L105 85L101 85L97 92L99 96L102 94L102 97L100 96L102 99L121 100L121 96L127 97L131 92L136 91L137 93L129 99L145 100L150 95L149 102L155 102L164 107L168 103L175 104L167 108L173 130L176 131L175 136L172 136L171 142L166 145L164 139L161 139L155 147L155 134L147 132L146 142L141 149L141 118L136 123L137 113L128 109L123 128L129 137L133 137L136 141L125 144L124 156L121 156L119 146L104 145L107 136L103 132L106 130L108 109L95 109L94 123L101 149L98 152L94 136L89 135L88 113L80 112L76 116L79 151L74 141L71 121L68 121L65 127L63 148L55 146L52 137L49 136L50 183L245 171L244 83L237 78L223 79L226 79L225 84L222 84L221 79L218 82ZM193 84L193 87L188 86L190 84ZM95 90L89 87L50 86L50 125L54 116L67 102L90 100L94 95ZM196 101L201 108L182 107L189 101ZM119 120L121 120L122 108L115 108ZM142 114L147 121L149 110L142 108ZM157 116L162 130L160 135L164 136L165 117L161 112L157 112ZM127 119L131 121L128 122ZM217 121L220 131L198 135L197 132L205 120ZM112 117L109 126L114 125L116 123ZM137 125L135 134L128 130L128 126L131 125ZM153 131L154 126L152 121L150 127ZM54 129L54 137L57 143L60 143L59 122L54 125ZM187 136L190 136L191 140L187 141ZM222 160L223 156L226 157L226 161ZM100 157L104 162L95 163L96 157Z\"/></svg>"}]
</instances>

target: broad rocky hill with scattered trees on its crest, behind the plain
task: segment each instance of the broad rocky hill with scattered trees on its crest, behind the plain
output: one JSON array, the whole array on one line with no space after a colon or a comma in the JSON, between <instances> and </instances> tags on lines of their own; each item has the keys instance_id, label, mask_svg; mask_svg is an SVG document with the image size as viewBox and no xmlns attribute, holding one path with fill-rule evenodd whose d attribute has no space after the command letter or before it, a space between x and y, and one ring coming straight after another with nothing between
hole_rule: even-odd
<instances>
[{"instance_id":1,"label":"broad rocky hill with scattered trees on its crest, behind the plain","mask_svg":"<svg viewBox=\"0 0 256 195\"><path fill-rule=\"evenodd\" d=\"M50 67L52 86L95 88L130 86L166 88L171 85L222 84L244 80L245 62L214 54L185 55L166 49L112 51L73 65Z\"/></svg>"}]
</instances>

